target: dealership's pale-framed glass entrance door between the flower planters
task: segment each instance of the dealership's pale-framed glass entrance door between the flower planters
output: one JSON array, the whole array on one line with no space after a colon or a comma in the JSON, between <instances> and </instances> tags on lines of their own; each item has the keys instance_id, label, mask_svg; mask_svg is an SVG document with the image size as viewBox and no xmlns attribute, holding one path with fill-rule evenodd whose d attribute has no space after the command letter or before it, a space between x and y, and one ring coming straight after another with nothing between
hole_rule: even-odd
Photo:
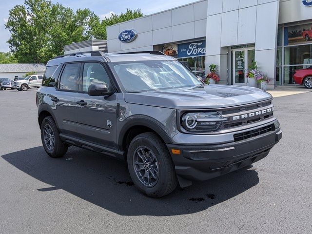
<instances>
[{"instance_id":1,"label":"dealership's pale-framed glass entrance door between the flower planters","mask_svg":"<svg viewBox=\"0 0 312 234\"><path fill-rule=\"evenodd\" d=\"M246 85L246 75L254 62L254 48L233 50L233 84Z\"/></svg>"}]
</instances>

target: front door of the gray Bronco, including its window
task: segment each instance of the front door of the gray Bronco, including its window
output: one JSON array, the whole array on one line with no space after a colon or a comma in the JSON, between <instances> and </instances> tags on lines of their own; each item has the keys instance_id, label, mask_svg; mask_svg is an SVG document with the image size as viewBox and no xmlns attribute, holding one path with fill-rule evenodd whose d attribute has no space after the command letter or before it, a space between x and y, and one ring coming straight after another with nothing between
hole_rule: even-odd
<instances>
[{"instance_id":1,"label":"front door of the gray Bronco, including its window","mask_svg":"<svg viewBox=\"0 0 312 234\"><path fill-rule=\"evenodd\" d=\"M83 64L82 87L77 93L76 118L79 138L111 149L116 149L117 93L112 96L92 97L88 87L92 83L103 83L112 90L109 76L99 62Z\"/></svg>"}]
</instances>

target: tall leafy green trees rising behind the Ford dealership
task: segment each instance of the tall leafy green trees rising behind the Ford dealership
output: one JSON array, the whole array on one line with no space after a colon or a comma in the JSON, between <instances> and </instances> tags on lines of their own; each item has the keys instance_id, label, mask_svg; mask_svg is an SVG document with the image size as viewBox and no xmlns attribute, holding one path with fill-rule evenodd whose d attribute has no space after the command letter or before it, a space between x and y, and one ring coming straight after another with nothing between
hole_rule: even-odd
<instances>
[{"instance_id":1,"label":"tall leafy green trees rising behind the Ford dealership","mask_svg":"<svg viewBox=\"0 0 312 234\"><path fill-rule=\"evenodd\" d=\"M62 54L63 46L87 39L106 39L106 26L143 16L140 9L127 9L100 20L89 9L78 9L50 0L25 0L9 12L5 27L10 49L20 63L46 63Z\"/></svg>"}]
</instances>

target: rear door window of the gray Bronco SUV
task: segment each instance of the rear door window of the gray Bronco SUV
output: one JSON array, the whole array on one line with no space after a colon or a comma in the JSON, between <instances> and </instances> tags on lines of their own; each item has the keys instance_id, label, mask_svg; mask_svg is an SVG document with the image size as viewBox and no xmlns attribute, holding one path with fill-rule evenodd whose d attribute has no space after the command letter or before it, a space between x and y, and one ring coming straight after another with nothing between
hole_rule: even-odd
<instances>
[{"instance_id":1,"label":"rear door window of the gray Bronco SUV","mask_svg":"<svg viewBox=\"0 0 312 234\"><path fill-rule=\"evenodd\" d=\"M80 63L66 64L63 73L60 77L59 89L78 91L79 70Z\"/></svg>"}]
</instances>

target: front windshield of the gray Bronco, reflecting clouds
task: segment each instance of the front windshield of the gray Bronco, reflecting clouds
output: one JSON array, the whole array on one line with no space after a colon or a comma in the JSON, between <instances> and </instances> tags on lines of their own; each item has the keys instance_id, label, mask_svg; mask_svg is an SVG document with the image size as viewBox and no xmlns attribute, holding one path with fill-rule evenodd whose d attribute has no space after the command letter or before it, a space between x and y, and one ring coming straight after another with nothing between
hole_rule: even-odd
<instances>
[{"instance_id":1,"label":"front windshield of the gray Bronco, reflecting clouds","mask_svg":"<svg viewBox=\"0 0 312 234\"><path fill-rule=\"evenodd\" d=\"M110 66L129 93L203 85L178 61L112 62Z\"/></svg>"}]
</instances>

